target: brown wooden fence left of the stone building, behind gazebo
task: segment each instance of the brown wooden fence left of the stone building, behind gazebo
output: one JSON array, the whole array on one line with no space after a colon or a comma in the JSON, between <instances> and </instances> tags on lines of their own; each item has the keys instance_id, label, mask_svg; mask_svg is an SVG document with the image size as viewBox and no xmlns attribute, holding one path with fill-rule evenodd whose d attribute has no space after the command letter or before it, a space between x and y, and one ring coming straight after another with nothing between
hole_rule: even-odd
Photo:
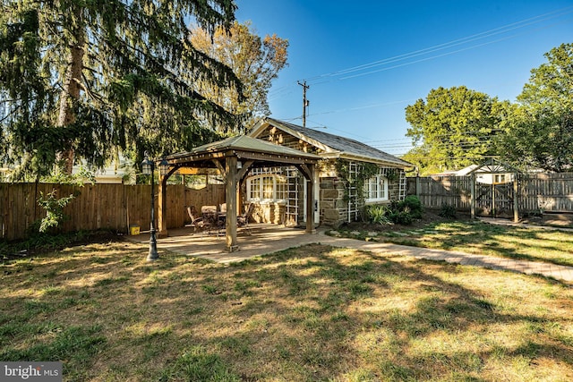
<instances>
[{"instance_id":1,"label":"brown wooden fence left of the stone building, behind gazebo","mask_svg":"<svg viewBox=\"0 0 573 382\"><path fill-rule=\"evenodd\" d=\"M69 217L62 232L110 229L129 232L130 225L150 227L150 185L86 184L83 187L52 183L0 183L0 233L5 240L21 239L35 220L46 216L38 206L40 192L57 191L57 197L78 196L64 208ZM156 218L158 208L155 186ZM181 227L188 220L185 206L218 205L225 202L225 186L208 184L201 190L167 185L167 228Z\"/></svg>"}]
</instances>

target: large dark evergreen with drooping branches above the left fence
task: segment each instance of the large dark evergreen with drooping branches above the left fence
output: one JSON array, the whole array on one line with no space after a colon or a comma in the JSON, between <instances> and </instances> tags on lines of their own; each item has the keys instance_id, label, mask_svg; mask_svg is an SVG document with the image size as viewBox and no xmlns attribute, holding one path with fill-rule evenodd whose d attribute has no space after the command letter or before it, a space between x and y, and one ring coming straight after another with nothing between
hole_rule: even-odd
<instances>
[{"instance_id":1,"label":"large dark evergreen with drooping branches above the left fence","mask_svg":"<svg viewBox=\"0 0 573 382\"><path fill-rule=\"evenodd\" d=\"M192 47L186 23L210 33L234 21L233 0L2 0L0 155L21 175L56 159L103 166L118 149L141 159L212 140L234 115L193 81L234 88L226 65Z\"/></svg>"}]
</instances>

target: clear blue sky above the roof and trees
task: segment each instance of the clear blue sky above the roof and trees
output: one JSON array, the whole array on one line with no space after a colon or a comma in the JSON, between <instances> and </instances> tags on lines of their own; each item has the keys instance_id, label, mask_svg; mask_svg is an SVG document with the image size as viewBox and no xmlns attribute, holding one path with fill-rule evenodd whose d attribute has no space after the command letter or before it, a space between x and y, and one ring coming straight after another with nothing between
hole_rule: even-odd
<instances>
[{"instance_id":1,"label":"clear blue sky above the roof and trees","mask_svg":"<svg viewBox=\"0 0 573 382\"><path fill-rule=\"evenodd\" d=\"M544 53L573 42L573 1L236 0L236 18L289 41L269 91L272 117L368 143L410 148L405 108L465 85L514 101Z\"/></svg>"}]
</instances>

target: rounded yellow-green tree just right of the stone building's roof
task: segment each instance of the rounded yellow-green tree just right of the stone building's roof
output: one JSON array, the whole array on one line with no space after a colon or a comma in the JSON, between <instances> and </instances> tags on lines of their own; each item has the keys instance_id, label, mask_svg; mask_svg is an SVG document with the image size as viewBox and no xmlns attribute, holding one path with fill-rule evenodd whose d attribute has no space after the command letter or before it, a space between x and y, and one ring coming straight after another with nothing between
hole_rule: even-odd
<instances>
[{"instance_id":1,"label":"rounded yellow-green tree just right of the stone building's roof","mask_svg":"<svg viewBox=\"0 0 573 382\"><path fill-rule=\"evenodd\" d=\"M471 165L493 154L492 138L502 118L497 98L467 89L432 89L425 100L406 107L412 127L406 135L422 145L408 155L423 174ZM416 156L423 157L416 160Z\"/></svg>"}]
</instances>

